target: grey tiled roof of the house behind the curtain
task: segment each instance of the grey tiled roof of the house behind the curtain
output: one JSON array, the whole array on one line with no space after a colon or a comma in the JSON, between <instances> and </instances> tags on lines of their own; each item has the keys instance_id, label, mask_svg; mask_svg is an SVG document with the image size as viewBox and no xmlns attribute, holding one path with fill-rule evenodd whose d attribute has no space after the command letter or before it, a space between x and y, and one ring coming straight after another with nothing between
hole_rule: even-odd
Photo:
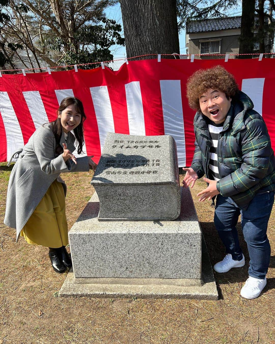
<instances>
[{"instance_id":1,"label":"grey tiled roof of the house behind the curtain","mask_svg":"<svg viewBox=\"0 0 275 344\"><path fill-rule=\"evenodd\" d=\"M186 33L240 29L240 27L241 16L204 20L191 20L188 23L186 23Z\"/></svg>"}]
</instances>

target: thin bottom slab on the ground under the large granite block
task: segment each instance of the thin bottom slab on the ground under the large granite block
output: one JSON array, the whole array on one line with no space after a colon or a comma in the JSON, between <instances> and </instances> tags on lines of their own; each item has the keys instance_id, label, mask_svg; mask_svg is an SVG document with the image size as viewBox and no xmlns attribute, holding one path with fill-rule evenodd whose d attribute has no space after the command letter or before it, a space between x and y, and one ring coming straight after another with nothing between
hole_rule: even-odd
<instances>
[{"instance_id":1,"label":"thin bottom slab on the ground under the large granite block","mask_svg":"<svg viewBox=\"0 0 275 344\"><path fill-rule=\"evenodd\" d=\"M218 300L218 290L203 237L201 275L202 279L75 278L71 270L58 296Z\"/></svg>"}]
</instances>

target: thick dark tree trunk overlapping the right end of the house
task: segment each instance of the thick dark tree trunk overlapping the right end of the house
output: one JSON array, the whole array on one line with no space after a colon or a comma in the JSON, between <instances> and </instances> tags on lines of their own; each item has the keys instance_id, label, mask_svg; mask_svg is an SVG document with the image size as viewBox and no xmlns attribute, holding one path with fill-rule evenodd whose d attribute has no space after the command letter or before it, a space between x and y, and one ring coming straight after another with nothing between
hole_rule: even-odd
<instances>
[{"instance_id":1,"label":"thick dark tree trunk overlapping the right end of the house","mask_svg":"<svg viewBox=\"0 0 275 344\"><path fill-rule=\"evenodd\" d=\"M240 54L253 53L255 0L242 1ZM239 58L252 58L252 55L240 55Z\"/></svg>"}]
</instances>

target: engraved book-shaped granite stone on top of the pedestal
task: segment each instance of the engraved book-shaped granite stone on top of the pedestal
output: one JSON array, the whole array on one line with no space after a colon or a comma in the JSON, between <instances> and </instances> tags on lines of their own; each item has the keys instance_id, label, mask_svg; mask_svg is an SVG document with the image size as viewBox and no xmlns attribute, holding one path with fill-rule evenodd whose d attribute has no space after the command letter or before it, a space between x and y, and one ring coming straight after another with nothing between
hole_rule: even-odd
<instances>
[{"instance_id":1,"label":"engraved book-shaped granite stone on top of the pedestal","mask_svg":"<svg viewBox=\"0 0 275 344\"><path fill-rule=\"evenodd\" d=\"M109 132L91 184L99 198L99 221L176 219L180 190L175 140Z\"/></svg>"}]
</instances>

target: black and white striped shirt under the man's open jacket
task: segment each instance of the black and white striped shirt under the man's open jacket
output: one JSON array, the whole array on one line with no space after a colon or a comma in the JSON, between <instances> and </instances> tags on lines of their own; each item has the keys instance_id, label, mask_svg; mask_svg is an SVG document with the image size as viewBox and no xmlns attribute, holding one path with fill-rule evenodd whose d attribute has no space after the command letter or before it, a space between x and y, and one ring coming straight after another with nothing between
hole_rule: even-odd
<instances>
[{"instance_id":1,"label":"black and white striped shirt under the man's open jacket","mask_svg":"<svg viewBox=\"0 0 275 344\"><path fill-rule=\"evenodd\" d=\"M223 123L215 124L211 121L208 124L208 130L210 132L212 145L210 147L210 160L209 160L209 179L220 180L219 170L218 170L218 139L219 133L223 129Z\"/></svg>"}]
</instances>

